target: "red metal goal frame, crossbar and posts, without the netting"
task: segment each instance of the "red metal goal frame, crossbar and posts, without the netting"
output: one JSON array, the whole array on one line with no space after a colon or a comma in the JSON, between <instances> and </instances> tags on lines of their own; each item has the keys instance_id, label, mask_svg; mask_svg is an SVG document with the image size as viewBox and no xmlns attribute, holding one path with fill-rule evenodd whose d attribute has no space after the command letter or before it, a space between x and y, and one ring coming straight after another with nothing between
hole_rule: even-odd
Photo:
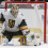
<instances>
[{"instance_id":1,"label":"red metal goal frame, crossbar and posts, without the netting","mask_svg":"<svg viewBox=\"0 0 48 48\"><path fill-rule=\"evenodd\" d=\"M7 3L44 3L45 4L45 12L44 12L44 15L45 15L45 17L44 17L44 43L46 43L46 18L47 18L47 3L46 2L31 2L31 1L29 1L29 2L27 2L27 1L21 1L21 2L19 2L19 1L6 1L5 2L5 10L7 9Z\"/></svg>"}]
</instances>

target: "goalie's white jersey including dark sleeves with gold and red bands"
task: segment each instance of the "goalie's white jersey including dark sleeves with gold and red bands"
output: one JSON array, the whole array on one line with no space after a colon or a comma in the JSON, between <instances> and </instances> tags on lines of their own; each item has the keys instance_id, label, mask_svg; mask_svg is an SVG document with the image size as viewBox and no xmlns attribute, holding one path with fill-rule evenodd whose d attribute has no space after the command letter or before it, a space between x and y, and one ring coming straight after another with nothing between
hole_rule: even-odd
<instances>
[{"instance_id":1,"label":"goalie's white jersey including dark sleeves with gold and red bands","mask_svg":"<svg viewBox=\"0 0 48 48\"><path fill-rule=\"evenodd\" d=\"M18 13L17 17L15 18L11 12L5 12L5 14L1 14L0 21L4 22L6 31L17 32L21 30L25 32L23 34L26 34L26 31L28 31L25 17L20 13Z\"/></svg>"}]
</instances>

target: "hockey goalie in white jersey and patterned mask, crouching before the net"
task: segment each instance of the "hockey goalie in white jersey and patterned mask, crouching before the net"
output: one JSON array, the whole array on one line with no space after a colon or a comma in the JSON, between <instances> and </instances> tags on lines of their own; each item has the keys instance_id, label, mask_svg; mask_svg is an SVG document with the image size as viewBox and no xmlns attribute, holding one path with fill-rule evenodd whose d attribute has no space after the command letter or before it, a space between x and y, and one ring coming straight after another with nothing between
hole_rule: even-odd
<instances>
[{"instance_id":1,"label":"hockey goalie in white jersey and patterned mask, crouching before the net","mask_svg":"<svg viewBox=\"0 0 48 48\"><path fill-rule=\"evenodd\" d=\"M39 45L41 41L35 38L35 33L28 30L26 19L19 13L17 5L13 5L7 14L0 14L0 29L2 29L2 23L4 23L5 29L1 30L1 33L6 36L2 45L6 45L13 36L18 35L25 35L27 42L32 42L35 46Z\"/></svg>"}]
</instances>

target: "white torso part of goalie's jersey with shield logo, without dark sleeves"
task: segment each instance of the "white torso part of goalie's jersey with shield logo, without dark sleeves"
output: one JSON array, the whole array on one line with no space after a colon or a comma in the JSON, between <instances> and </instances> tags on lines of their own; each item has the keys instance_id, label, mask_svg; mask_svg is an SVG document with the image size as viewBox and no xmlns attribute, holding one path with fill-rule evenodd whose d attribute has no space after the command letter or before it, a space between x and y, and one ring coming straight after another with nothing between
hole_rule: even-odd
<instances>
[{"instance_id":1,"label":"white torso part of goalie's jersey with shield logo, without dark sleeves","mask_svg":"<svg viewBox=\"0 0 48 48\"><path fill-rule=\"evenodd\" d=\"M16 32L19 31L19 25L21 23L23 16L18 13L17 17L15 18L11 12L5 12L3 14L3 17L5 18L4 26L7 31Z\"/></svg>"}]
</instances>

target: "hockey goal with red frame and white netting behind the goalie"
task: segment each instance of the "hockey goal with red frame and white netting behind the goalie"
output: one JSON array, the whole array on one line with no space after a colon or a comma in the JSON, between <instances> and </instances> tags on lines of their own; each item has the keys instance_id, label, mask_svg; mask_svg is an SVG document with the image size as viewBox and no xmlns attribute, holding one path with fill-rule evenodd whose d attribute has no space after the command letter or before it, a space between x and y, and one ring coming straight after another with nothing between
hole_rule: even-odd
<instances>
[{"instance_id":1,"label":"hockey goal with red frame and white netting behind the goalie","mask_svg":"<svg viewBox=\"0 0 48 48\"><path fill-rule=\"evenodd\" d=\"M7 6L11 4L11 6ZM46 43L46 9L45 2L14 2L5 3L5 12L13 5L19 6L20 14L25 17L28 29L41 36L41 42Z\"/></svg>"}]
</instances>

